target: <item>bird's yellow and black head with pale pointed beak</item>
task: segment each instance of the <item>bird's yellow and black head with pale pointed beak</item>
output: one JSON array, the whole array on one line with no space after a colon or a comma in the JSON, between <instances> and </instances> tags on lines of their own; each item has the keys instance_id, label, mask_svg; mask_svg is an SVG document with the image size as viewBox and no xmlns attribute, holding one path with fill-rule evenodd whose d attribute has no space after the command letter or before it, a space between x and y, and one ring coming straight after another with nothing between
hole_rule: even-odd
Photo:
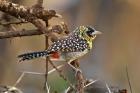
<instances>
[{"instance_id":1,"label":"bird's yellow and black head with pale pointed beak","mask_svg":"<svg viewBox=\"0 0 140 93\"><path fill-rule=\"evenodd\" d=\"M97 31L90 26L80 26L79 30L80 35L87 40L93 40L97 35L102 34L100 31Z\"/></svg>"}]
</instances>

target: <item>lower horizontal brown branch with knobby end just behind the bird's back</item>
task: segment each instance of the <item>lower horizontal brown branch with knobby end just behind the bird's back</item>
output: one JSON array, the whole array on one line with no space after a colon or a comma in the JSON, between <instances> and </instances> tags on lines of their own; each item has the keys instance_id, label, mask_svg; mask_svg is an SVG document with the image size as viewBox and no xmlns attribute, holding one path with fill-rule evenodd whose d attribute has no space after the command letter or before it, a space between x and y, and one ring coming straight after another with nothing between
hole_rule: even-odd
<instances>
[{"instance_id":1,"label":"lower horizontal brown branch with knobby end just behind the bird's back","mask_svg":"<svg viewBox=\"0 0 140 93\"><path fill-rule=\"evenodd\" d=\"M52 36L49 35L50 33L54 32L54 33L58 33L61 34L62 33L62 29L60 29L61 26L58 25L54 25L50 28L48 28L47 33L48 36ZM32 29L32 30L18 30L18 31L7 31L7 32L0 32L0 39L5 39L5 38L13 38L13 37L24 37L24 36L34 36L34 35L43 35L44 33L42 33L39 29ZM51 38L56 39L56 36L52 36Z\"/></svg>"}]
</instances>

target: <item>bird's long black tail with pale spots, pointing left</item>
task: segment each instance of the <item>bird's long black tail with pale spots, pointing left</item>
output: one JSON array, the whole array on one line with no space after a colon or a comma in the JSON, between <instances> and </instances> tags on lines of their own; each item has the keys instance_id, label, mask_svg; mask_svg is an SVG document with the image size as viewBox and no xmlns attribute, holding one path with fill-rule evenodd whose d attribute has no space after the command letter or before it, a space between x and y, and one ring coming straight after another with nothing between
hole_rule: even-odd
<instances>
[{"instance_id":1,"label":"bird's long black tail with pale spots, pointing left","mask_svg":"<svg viewBox=\"0 0 140 93\"><path fill-rule=\"evenodd\" d=\"M39 58L44 56L49 56L47 51L25 53L25 54L18 55L18 58L20 58L19 62L21 62L21 61L31 60L34 58Z\"/></svg>"}]
</instances>

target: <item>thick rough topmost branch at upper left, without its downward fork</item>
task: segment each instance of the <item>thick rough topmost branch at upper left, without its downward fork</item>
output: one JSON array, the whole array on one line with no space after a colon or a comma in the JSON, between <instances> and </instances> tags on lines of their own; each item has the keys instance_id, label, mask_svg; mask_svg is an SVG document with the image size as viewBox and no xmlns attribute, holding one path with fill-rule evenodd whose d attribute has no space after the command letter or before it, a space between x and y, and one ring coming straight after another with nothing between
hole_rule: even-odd
<instances>
[{"instance_id":1,"label":"thick rough topmost branch at upper left, without its downward fork","mask_svg":"<svg viewBox=\"0 0 140 93\"><path fill-rule=\"evenodd\" d=\"M37 18L46 21L57 16L54 10L42 9L41 11L35 11L34 8L27 8L6 0L0 0L0 11L8 13L16 18L23 18L31 23Z\"/></svg>"}]
</instances>

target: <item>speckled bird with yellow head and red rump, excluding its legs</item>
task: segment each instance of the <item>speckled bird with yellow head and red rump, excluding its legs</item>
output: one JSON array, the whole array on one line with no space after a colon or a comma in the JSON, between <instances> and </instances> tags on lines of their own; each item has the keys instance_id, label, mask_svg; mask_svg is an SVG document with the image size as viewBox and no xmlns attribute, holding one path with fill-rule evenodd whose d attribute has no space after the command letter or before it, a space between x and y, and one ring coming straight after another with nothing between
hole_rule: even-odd
<instances>
[{"instance_id":1,"label":"speckled bird with yellow head and red rump, excluding its legs","mask_svg":"<svg viewBox=\"0 0 140 93\"><path fill-rule=\"evenodd\" d=\"M19 61L28 61L40 57L63 58L70 63L87 54L93 47L94 40L100 31L90 26L79 26L66 38L52 43L48 49L18 55Z\"/></svg>"}]
</instances>

